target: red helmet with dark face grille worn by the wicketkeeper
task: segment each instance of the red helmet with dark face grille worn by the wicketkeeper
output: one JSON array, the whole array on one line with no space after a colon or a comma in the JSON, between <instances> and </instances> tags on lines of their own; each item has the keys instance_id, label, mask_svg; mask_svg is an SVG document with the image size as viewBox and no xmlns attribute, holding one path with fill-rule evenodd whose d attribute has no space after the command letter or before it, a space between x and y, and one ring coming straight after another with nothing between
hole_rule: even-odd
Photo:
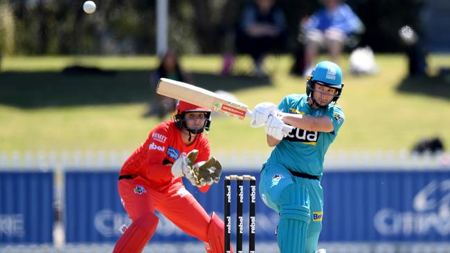
<instances>
[{"instance_id":1,"label":"red helmet with dark face grille worn by the wicketkeeper","mask_svg":"<svg viewBox=\"0 0 450 253\"><path fill-rule=\"evenodd\" d=\"M177 124L178 129L181 130L184 128L194 134L203 133L204 130L209 131L211 124L211 110L181 100L179 100L175 109L177 110L177 114L174 115L174 122ZM186 123L184 122L184 115L192 111L205 113L205 124L201 129L188 129L186 126Z\"/></svg>"}]
</instances>

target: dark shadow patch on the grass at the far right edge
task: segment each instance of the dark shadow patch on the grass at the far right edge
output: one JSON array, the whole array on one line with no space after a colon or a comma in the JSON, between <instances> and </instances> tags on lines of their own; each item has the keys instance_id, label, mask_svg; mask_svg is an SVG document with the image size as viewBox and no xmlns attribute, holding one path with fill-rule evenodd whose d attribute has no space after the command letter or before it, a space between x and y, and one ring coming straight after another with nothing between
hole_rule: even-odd
<instances>
[{"instance_id":1,"label":"dark shadow patch on the grass at the far right edge","mask_svg":"<svg viewBox=\"0 0 450 253\"><path fill-rule=\"evenodd\" d=\"M435 77L406 77L397 86L397 90L450 100L450 75L447 73Z\"/></svg>"}]
</instances>

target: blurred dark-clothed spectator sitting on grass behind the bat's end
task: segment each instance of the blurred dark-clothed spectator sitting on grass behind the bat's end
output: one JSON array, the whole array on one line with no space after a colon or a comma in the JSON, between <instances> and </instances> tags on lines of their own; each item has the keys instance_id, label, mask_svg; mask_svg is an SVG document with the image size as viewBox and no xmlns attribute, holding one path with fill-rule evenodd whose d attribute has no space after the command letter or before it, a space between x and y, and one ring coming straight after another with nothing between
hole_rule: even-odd
<instances>
[{"instance_id":1,"label":"blurred dark-clothed spectator sitting on grass behind the bat's end","mask_svg":"<svg viewBox=\"0 0 450 253\"><path fill-rule=\"evenodd\" d=\"M150 77L150 85L152 91L155 91L156 84L161 77L174 79L180 82L190 82L188 75L181 69L179 59L174 50L168 50L167 53L161 58L161 63ZM150 102L149 110L145 113L145 116L158 115L162 119L167 113L172 113L177 105L177 100L172 97L165 97L155 93L154 100Z\"/></svg>"}]
</instances>

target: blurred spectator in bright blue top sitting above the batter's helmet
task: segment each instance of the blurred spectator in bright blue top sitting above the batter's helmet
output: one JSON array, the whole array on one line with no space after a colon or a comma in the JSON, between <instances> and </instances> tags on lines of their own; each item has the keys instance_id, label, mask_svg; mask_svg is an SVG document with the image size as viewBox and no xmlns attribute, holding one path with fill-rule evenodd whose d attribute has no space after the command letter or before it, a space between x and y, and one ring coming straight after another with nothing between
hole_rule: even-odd
<instances>
[{"instance_id":1,"label":"blurred spectator in bright blue top sitting above the batter's helmet","mask_svg":"<svg viewBox=\"0 0 450 253\"><path fill-rule=\"evenodd\" d=\"M361 32L363 24L343 0L321 0L324 8L304 19L300 26L305 35L305 72L310 73L318 50L327 47L332 62L339 62L346 39Z\"/></svg>"}]
</instances>

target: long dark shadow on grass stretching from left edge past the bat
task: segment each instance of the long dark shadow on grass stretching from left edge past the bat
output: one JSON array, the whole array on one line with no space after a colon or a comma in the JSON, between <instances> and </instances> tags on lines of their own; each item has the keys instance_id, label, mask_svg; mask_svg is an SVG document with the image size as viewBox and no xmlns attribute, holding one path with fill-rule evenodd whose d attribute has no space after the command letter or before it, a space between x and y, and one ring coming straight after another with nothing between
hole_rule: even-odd
<instances>
[{"instance_id":1,"label":"long dark shadow on grass stretching from left edge past the bat","mask_svg":"<svg viewBox=\"0 0 450 253\"><path fill-rule=\"evenodd\" d=\"M22 109L50 106L129 104L149 102L154 96L151 71L99 71L0 73L0 104ZM194 84L210 91L271 84L270 79L248 76L221 77L191 73Z\"/></svg>"}]
</instances>

